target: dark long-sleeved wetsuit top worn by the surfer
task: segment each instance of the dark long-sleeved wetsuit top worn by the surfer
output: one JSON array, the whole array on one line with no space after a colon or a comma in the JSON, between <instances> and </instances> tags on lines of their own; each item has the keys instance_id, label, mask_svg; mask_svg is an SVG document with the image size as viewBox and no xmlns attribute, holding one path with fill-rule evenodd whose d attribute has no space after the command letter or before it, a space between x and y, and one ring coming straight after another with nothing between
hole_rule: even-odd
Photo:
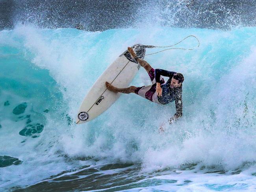
<instances>
[{"instance_id":1,"label":"dark long-sleeved wetsuit top worn by the surfer","mask_svg":"<svg viewBox=\"0 0 256 192\"><path fill-rule=\"evenodd\" d=\"M168 81L161 85L162 96L158 96L159 103L166 105L175 100L176 113L174 116L180 118L182 116L182 86L171 88L171 80L176 72L163 69L155 69L156 83L160 83L160 76L169 77Z\"/></svg>"}]
</instances>

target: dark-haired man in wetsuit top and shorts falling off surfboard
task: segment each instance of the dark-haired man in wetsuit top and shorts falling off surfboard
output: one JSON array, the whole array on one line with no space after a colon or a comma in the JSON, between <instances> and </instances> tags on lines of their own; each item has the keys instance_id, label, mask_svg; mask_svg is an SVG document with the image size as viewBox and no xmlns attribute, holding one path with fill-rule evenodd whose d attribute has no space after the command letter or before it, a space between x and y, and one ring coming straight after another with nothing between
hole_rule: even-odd
<instances>
[{"instance_id":1,"label":"dark-haired man in wetsuit top and shorts falling off surfboard","mask_svg":"<svg viewBox=\"0 0 256 192\"><path fill-rule=\"evenodd\" d=\"M182 116L183 75L163 69L154 69L146 61L138 58L132 48L128 47L128 52L148 72L152 85L143 87L130 86L127 88L117 88L106 82L107 89L113 92L121 92L126 94L135 93L152 102L163 105L175 101L176 113L169 120L170 124L173 123ZM169 77L169 80L165 82L165 80L160 78L160 76ZM160 127L160 131L163 131L163 126Z\"/></svg>"}]
</instances>

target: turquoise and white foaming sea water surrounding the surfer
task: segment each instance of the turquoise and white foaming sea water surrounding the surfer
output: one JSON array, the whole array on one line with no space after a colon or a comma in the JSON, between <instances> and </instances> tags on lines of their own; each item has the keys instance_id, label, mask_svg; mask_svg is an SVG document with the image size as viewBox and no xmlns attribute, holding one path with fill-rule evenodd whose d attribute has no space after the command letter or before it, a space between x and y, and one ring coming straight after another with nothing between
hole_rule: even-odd
<instances>
[{"instance_id":1,"label":"turquoise and white foaming sea water surrounding the surfer","mask_svg":"<svg viewBox=\"0 0 256 192\"><path fill-rule=\"evenodd\" d=\"M85 94L127 46L166 46L188 35L199 48L145 57L185 77L184 116L164 134L158 127L175 113L174 103L163 107L135 94L74 124ZM65 191L253 191L255 42L253 27L0 31L0 187L57 191L61 181ZM176 47L196 46L191 38ZM143 68L131 83L149 84Z\"/></svg>"}]
</instances>

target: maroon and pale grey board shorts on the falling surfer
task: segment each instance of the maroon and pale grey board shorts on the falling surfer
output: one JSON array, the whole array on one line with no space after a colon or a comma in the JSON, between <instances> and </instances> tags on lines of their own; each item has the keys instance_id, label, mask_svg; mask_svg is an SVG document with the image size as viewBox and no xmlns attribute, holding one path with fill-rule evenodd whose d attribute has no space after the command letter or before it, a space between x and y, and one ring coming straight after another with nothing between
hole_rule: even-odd
<instances>
[{"instance_id":1,"label":"maroon and pale grey board shorts on the falling surfer","mask_svg":"<svg viewBox=\"0 0 256 192\"><path fill-rule=\"evenodd\" d=\"M154 68L152 68L149 72L148 72L148 76L152 82L152 85L148 85L148 86L142 86L142 87L138 87L137 89L135 89L135 93L138 94L139 96L142 96L143 98L150 100L151 102L155 102L155 103L159 103L158 102L158 98L157 98L157 94L156 94L156 79L155 79L155 70ZM160 77L161 79L162 77ZM164 84L165 80L162 78L160 80L160 85Z\"/></svg>"}]
</instances>

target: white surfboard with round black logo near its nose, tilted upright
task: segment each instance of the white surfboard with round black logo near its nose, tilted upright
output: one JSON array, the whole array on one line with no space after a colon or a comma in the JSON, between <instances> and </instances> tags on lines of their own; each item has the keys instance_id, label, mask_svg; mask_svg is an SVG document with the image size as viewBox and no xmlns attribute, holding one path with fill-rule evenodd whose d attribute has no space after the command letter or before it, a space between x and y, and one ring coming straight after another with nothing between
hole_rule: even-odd
<instances>
[{"instance_id":1,"label":"white surfboard with round black logo near its nose, tilted upright","mask_svg":"<svg viewBox=\"0 0 256 192\"><path fill-rule=\"evenodd\" d=\"M139 58L144 58L146 50L143 45L136 44L132 48ZM121 54L109 65L85 96L76 116L76 124L93 120L106 111L121 96L121 93L106 89L106 81L115 87L128 87L139 68L140 65L132 59L127 50Z\"/></svg>"}]
</instances>

